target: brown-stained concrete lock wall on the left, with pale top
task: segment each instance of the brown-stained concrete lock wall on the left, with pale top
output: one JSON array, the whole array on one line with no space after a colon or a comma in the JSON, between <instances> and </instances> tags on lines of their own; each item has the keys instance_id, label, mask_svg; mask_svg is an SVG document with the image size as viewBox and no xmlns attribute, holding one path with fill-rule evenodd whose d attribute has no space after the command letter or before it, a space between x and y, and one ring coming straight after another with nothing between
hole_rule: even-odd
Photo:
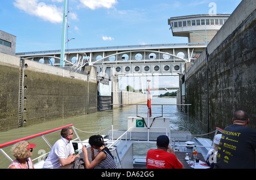
<instances>
[{"instance_id":1,"label":"brown-stained concrete lock wall on the left, with pale top","mask_svg":"<svg viewBox=\"0 0 256 180\"><path fill-rule=\"evenodd\" d=\"M0 53L0 131L18 127L19 65L20 58ZM95 71L88 77L28 60L23 70L23 126L97 112Z\"/></svg>"}]
</instances>

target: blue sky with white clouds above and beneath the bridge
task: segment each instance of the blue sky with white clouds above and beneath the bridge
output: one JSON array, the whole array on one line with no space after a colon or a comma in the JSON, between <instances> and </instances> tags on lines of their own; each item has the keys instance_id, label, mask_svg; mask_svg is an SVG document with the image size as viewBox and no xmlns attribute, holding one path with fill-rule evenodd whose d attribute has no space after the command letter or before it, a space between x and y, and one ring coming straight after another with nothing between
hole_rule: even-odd
<instances>
[{"instance_id":1,"label":"blue sky with white clouds above and beneath the bridge","mask_svg":"<svg viewBox=\"0 0 256 180\"><path fill-rule=\"evenodd\" d=\"M173 37L168 18L208 14L232 14L241 0L68 0L65 48L168 44L184 42ZM61 49L64 0L0 1L0 30L16 36L16 53ZM156 84L178 86L178 77L161 78ZM138 79L137 79L138 80ZM126 86L133 79L123 79ZM146 82L146 81L145 81ZM146 84L146 83L145 83ZM163 85L161 85L163 84ZM171 92L171 91L170 91ZM157 92L156 92L157 93ZM165 91L159 92L165 93Z\"/></svg>"}]
</instances>

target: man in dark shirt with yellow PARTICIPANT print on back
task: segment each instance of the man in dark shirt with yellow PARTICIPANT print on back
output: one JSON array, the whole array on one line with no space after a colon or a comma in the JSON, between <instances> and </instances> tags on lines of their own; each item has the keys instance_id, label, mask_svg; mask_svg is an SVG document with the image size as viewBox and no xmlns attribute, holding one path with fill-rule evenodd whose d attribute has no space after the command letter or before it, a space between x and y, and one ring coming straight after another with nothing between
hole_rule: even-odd
<instances>
[{"instance_id":1,"label":"man in dark shirt with yellow PARTICIPANT print on back","mask_svg":"<svg viewBox=\"0 0 256 180\"><path fill-rule=\"evenodd\" d=\"M214 168L255 168L256 131L248 125L246 112L234 113L233 125L222 132Z\"/></svg>"}]
</instances>

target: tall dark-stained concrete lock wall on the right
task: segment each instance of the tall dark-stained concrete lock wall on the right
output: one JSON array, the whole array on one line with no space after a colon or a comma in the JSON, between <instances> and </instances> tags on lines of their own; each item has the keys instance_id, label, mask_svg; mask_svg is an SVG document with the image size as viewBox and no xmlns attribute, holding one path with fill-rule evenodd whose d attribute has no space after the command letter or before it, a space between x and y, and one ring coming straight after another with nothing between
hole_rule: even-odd
<instances>
[{"instance_id":1,"label":"tall dark-stained concrete lock wall on the right","mask_svg":"<svg viewBox=\"0 0 256 180\"><path fill-rule=\"evenodd\" d=\"M245 110L256 129L255 6L254 0L242 1L210 41L208 67L204 51L185 72L189 115L205 131L232 124L236 110Z\"/></svg>"}]
</instances>

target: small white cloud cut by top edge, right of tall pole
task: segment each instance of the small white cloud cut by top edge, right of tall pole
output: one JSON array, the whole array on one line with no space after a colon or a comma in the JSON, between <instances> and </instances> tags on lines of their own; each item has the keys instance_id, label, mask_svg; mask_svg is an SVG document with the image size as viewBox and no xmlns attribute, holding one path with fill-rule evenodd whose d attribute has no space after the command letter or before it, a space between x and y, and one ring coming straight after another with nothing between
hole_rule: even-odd
<instances>
[{"instance_id":1,"label":"small white cloud cut by top edge, right of tall pole","mask_svg":"<svg viewBox=\"0 0 256 180\"><path fill-rule=\"evenodd\" d=\"M80 0L80 2L85 7L95 10L101 7L112 8L117 3L117 0Z\"/></svg>"}]
</instances>

